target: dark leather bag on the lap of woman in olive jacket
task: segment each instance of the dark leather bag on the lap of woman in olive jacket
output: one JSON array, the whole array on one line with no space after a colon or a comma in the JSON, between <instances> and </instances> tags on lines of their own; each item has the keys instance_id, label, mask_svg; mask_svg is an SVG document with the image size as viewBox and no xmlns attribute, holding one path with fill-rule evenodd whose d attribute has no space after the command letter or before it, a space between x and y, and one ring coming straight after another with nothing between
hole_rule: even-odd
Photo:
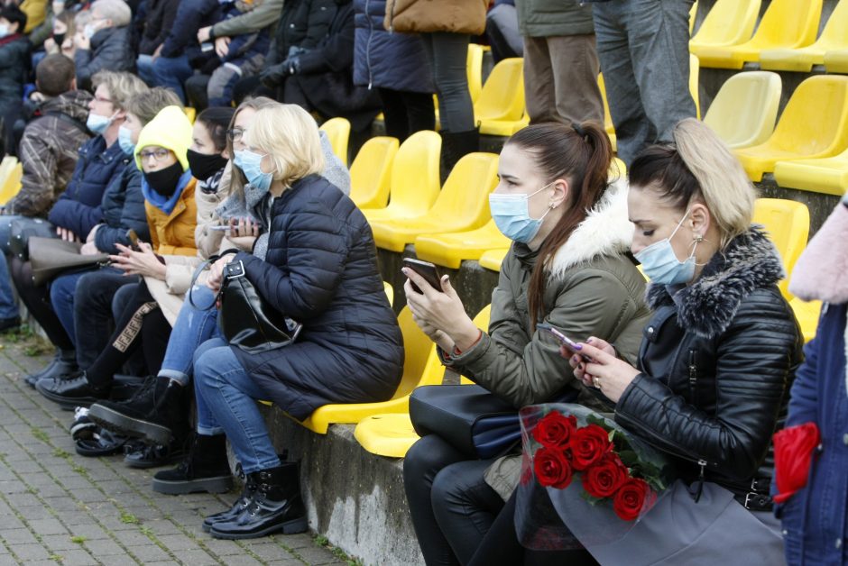
<instances>
[{"instance_id":1,"label":"dark leather bag on the lap of woman in olive jacket","mask_svg":"<svg viewBox=\"0 0 848 566\"><path fill-rule=\"evenodd\" d=\"M416 388L410 419L419 436L437 434L469 458L494 458L521 442L518 409L479 385Z\"/></svg>"}]
</instances>

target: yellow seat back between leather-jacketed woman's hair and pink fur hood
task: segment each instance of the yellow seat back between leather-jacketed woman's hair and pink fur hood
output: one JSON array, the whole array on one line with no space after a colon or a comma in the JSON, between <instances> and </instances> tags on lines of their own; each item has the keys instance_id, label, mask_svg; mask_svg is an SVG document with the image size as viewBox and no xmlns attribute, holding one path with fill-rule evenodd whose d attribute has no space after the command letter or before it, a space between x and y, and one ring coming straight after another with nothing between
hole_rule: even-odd
<instances>
[{"instance_id":1,"label":"yellow seat back between leather-jacketed woman's hair and pink fur hood","mask_svg":"<svg viewBox=\"0 0 848 566\"><path fill-rule=\"evenodd\" d=\"M810 233L810 212L807 205L783 198L758 198L754 203L753 221L762 224L771 242L780 253L783 269L792 272L801 252L807 247ZM793 296L788 290L788 279L778 284L787 300Z\"/></svg>"}]
</instances>

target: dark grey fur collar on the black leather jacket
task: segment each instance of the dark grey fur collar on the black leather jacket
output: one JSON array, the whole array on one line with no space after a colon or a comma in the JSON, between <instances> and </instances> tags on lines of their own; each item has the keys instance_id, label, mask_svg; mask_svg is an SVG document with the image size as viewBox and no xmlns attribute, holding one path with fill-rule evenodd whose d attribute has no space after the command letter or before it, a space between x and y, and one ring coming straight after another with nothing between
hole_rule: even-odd
<instances>
[{"instance_id":1,"label":"dark grey fur collar on the black leather jacket","mask_svg":"<svg viewBox=\"0 0 848 566\"><path fill-rule=\"evenodd\" d=\"M706 264L692 285L672 300L665 285L648 286L651 310L677 304L677 322L699 336L713 338L727 330L742 299L784 277L783 262L774 244L758 225L733 239L724 252Z\"/></svg>"}]
</instances>

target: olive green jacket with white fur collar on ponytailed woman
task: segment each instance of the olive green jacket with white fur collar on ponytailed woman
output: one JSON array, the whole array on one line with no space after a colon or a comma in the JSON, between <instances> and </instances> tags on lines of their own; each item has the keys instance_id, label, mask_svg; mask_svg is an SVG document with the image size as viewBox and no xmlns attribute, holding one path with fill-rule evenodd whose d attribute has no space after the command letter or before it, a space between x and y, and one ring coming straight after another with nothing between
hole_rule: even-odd
<instances>
[{"instance_id":1,"label":"olive green jacket with white fur collar on ponytailed woman","mask_svg":"<svg viewBox=\"0 0 848 566\"><path fill-rule=\"evenodd\" d=\"M627 189L620 181L550 261L543 317L576 341L603 338L627 361L635 361L642 328L650 317L644 303L645 279L626 255L632 233ZM512 245L492 294L489 332L461 354L439 351L439 356L453 370L516 407L549 402L569 388L580 391L580 402L600 407L595 395L575 379L555 338L543 330L531 331L527 294L536 256L524 244ZM504 497L518 482L518 464L517 459L496 462L487 472L486 480ZM504 466L502 473L497 472Z\"/></svg>"}]
</instances>

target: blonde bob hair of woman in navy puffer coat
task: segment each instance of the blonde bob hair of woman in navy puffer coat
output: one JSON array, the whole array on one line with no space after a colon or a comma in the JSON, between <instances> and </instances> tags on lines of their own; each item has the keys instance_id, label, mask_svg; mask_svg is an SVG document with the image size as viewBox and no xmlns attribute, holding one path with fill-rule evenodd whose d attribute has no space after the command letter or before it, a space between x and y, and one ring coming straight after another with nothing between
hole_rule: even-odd
<instances>
[{"instance_id":1,"label":"blonde bob hair of woman in navy puffer coat","mask_svg":"<svg viewBox=\"0 0 848 566\"><path fill-rule=\"evenodd\" d=\"M244 143L252 151L268 154L273 178L284 187L324 170L318 124L299 105L277 104L256 111Z\"/></svg>"}]
</instances>

